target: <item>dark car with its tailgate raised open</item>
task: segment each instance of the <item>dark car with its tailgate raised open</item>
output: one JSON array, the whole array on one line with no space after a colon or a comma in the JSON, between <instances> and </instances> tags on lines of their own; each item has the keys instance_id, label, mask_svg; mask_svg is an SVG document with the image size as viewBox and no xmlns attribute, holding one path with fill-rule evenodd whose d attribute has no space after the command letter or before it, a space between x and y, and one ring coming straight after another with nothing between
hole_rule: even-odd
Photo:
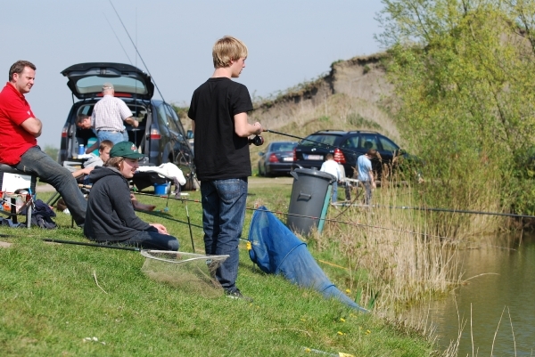
<instances>
[{"instance_id":1,"label":"dark car with its tailgate raised open","mask_svg":"<svg viewBox=\"0 0 535 357\"><path fill-rule=\"evenodd\" d=\"M165 101L152 100L154 84L151 77L134 66L122 63L80 63L62 71L68 77L72 107L62 128L59 162L80 161L78 145L88 144L87 137L76 126L78 115L91 116L95 103L102 98L102 86L111 83L115 96L125 101L139 126L126 124L128 140L136 143L146 155L142 166L177 165L187 180L185 189L193 190L193 150L177 113ZM75 97L79 101L75 101ZM89 135L91 136L91 135ZM94 139L95 140L95 139Z\"/></svg>"}]
</instances>

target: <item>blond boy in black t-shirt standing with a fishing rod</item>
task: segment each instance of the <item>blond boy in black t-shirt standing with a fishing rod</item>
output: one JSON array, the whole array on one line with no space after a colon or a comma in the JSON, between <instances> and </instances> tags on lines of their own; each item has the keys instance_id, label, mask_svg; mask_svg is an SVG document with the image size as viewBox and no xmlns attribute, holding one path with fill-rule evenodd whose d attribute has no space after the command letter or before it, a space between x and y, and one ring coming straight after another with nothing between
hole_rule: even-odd
<instances>
[{"instance_id":1,"label":"blond boy in black t-shirt standing with a fishing rod","mask_svg":"<svg viewBox=\"0 0 535 357\"><path fill-rule=\"evenodd\" d=\"M251 96L245 85L231 79L240 77L247 53L247 46L235 37L218 39L212 49L215 71L193 92L188 117L193 120L206 254L229 256L216 278L227 296L251 300L242 295L235 282L247 177L251 176L248 137L260 134L262 126L248 123Z\"/></svg>"}]
</instances>

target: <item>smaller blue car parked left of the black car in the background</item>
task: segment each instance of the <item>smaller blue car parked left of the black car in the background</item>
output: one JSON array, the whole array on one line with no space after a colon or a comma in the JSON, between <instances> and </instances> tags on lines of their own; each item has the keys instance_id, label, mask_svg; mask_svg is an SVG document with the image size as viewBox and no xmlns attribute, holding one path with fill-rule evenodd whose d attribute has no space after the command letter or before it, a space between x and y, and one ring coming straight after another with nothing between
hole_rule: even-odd
<instances>
[{"instance_id":1,"label":"smaller blue car parked left of the black car in the background","mask_svg":"<svg viewBox=\"0 0 535 357\"><path fill-rule=\"evenodd\" d=\"M297 142L270 142L265 151L260 151L259 175L275 176L289 174L293 165L293 149Z\"/></svg>"}]
</instances>

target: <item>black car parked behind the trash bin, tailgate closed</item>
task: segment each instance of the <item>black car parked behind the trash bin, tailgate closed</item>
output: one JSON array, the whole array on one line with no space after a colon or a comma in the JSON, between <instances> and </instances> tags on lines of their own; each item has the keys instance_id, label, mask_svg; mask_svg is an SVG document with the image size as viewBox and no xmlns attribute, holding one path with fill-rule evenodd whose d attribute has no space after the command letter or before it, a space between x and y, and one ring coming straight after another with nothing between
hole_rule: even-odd
<instances>
[{"instance_id":1,"label":"black car parked behind the trash bin, tailgate closed","mask_svg":"<svg viewBox=\"0 0 535 357\"><path fill-rule=\"evenodd\" d=\"M325 161L325 155L330 152L334 161L342 164L346 177L353 177L358 156L370 149L377 150L381 155L381 158L372 159L372 168L377 177L381 177L383 165L390 165L392 159L401 153L399 146L383 134L361 130L322 130L299 142L293 150L294 165L319 169Z\"/></svg>"}]
</instances>

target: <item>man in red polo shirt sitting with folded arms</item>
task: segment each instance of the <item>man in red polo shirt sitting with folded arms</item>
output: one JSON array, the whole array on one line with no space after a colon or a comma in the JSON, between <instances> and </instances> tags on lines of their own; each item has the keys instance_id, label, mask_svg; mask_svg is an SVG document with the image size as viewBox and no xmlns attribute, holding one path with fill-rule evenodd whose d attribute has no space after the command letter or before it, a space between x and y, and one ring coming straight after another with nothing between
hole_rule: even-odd
<instances>
[{"instance_id":1,"label":"man in red polo shirt sitting with folded arms","mask_svg":"<svg viewBox=\"0 0 535 357\"><path fill-rule=\"evenodd\" d=\"M60 192L78 226L86 221L86 199L70 171L37 146L43 123L29 108L24 94L34 85L36 66L16 61L9 69L9 82L0 92L0 162L50 183Z\"/></svg>"}]
</instances>

